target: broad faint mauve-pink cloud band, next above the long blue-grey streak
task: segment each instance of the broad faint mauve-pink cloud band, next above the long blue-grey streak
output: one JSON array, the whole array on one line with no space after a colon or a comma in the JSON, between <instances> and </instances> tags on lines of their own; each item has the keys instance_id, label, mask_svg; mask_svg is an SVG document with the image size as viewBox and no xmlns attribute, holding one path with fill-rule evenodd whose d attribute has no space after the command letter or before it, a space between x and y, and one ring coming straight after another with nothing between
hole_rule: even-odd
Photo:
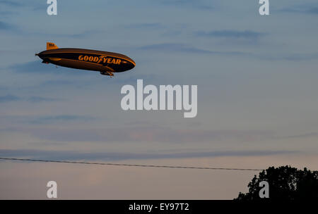
<instances>
[{"instance_id":1,"label":"broad faint mauve-pink cloud band, next above the long blue-grey streak","mask_svg":"<svg viewBox=\"0 0 318 214\"><path fill-rule=\"evenodd\" d=\"M54 119L54 118L52 118ZM166 143L185 143L197 141L256 141L271 139L272 131L262 130L177 130L169 127L114 127L95 129L73 129L53 127L17 127L16 132L32 134L39 139L52 141L100 141L100 142L129 142L152 141Z\"/></svg>"}]
</instances>

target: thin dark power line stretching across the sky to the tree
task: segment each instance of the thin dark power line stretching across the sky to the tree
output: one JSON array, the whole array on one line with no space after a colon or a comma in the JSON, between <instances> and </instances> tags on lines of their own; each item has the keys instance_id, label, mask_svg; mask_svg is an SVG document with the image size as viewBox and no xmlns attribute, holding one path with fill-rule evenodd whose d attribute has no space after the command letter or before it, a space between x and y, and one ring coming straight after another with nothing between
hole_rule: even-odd
<instances>
[{"instance_id":1,"label":"thin dark power line stretching across the sky to the tree","mask_svg":"<svg viewBox=\"0 0 318 214\"><path fill-rule=\"evenodd\" d=\"M26 158L1 158L0 157L0 160L21 160L21 161L46 162L46 163L76 163L76 164L86 164L86 165L115 165L115 166L129 166L129 167L143 167L143 168L261 171L259 169L247 169L247 168L244 169L244 168L210 168L210 167L174 166L174 165L141 165L141 164L125 164L125 163L80 162L80 161L67 161L67 160L40 160L40 159L26 159Z\"/></svg>"}]
</instances>

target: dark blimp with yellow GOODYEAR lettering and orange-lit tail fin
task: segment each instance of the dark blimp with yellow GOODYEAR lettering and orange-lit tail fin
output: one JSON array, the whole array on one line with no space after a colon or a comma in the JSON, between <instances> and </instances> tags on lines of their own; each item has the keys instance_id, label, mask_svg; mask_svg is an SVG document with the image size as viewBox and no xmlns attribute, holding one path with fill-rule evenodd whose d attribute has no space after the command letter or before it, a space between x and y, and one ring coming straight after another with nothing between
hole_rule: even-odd
<instances>
[{"instance_id":1,"label":"dark blimp with yellow GOODYEAR lettering and orange-lit tail fin","mask_svg":"<svg viewBox=\"0 0 318 214\"><path fill-rule=\"evenodd\" d=\"M35 53L43 61L67 68L95 70L101 75L114 76L114 73L131 70L136 63L121 53L96 51L90 49L62 48L53 42L47 42L47 50Z\"/></svg>"}]
</instances>

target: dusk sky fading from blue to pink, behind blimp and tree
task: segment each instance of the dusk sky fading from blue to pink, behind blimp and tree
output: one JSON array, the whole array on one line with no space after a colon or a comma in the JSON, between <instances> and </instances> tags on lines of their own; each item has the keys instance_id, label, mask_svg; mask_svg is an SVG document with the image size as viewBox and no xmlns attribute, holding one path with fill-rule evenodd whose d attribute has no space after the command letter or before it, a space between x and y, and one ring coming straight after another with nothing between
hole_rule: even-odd
<instances>
[{"instance_id":1,"label":"dusk sky fading from blue to pink, behind blimp and tree","mask_svg":"<svg viewBox=\"0 0 318 214\"><path fill-rule=\"evenodd\" d=\"M0 157L318 170L318 4L0 0ZM46 42L123 53L110 78L56 68ZM198 114L123 111L125 84L198 86ZM0 199L233 199L257 172L0 161Z\"/></svg>"}]
</instances>

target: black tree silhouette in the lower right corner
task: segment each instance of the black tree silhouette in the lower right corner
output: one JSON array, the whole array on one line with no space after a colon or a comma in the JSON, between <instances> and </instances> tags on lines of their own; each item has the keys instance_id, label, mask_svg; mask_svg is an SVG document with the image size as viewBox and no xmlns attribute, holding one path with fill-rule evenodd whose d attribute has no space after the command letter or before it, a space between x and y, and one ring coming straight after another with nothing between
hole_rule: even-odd
<instances>
[{"instance_id":1,"label":"black tree silhouette in the lower right corner","mask_svg":"<svg viewBox=\"0 0 318 214\"><path fill-rule=\"evenodd\" d=\"M237 201L264 200L259 197L259 182L269 182L269 199L266 200L304 200L318 199L318 171L307 168L298 170L290 166L270 167L254 175L249 182L249 192L238 195Z\"/></svg>"}]
</instances>

